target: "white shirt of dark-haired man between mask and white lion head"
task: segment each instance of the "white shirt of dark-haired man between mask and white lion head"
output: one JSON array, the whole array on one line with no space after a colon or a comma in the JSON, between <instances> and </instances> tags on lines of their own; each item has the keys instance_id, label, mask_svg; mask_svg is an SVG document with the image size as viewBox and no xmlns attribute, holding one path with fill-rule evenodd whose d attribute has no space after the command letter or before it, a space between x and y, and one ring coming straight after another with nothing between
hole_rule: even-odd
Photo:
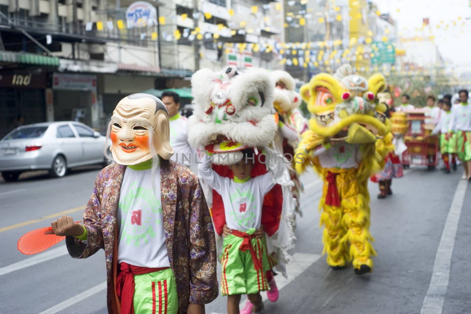
<instances>
[{"instance_id":1,"label":"white shirt of dark-haired man between mask and white lion head","mask_svg":"<svg viewBox=\"0 0 471 314\"><path fill-rule=\"evenodd\" d=\"M175 154L171 160L189 166L196 161L196 150L188 143L188 119L176 114L170 119L170 146Z\"/></svg>"}]
</instances>

